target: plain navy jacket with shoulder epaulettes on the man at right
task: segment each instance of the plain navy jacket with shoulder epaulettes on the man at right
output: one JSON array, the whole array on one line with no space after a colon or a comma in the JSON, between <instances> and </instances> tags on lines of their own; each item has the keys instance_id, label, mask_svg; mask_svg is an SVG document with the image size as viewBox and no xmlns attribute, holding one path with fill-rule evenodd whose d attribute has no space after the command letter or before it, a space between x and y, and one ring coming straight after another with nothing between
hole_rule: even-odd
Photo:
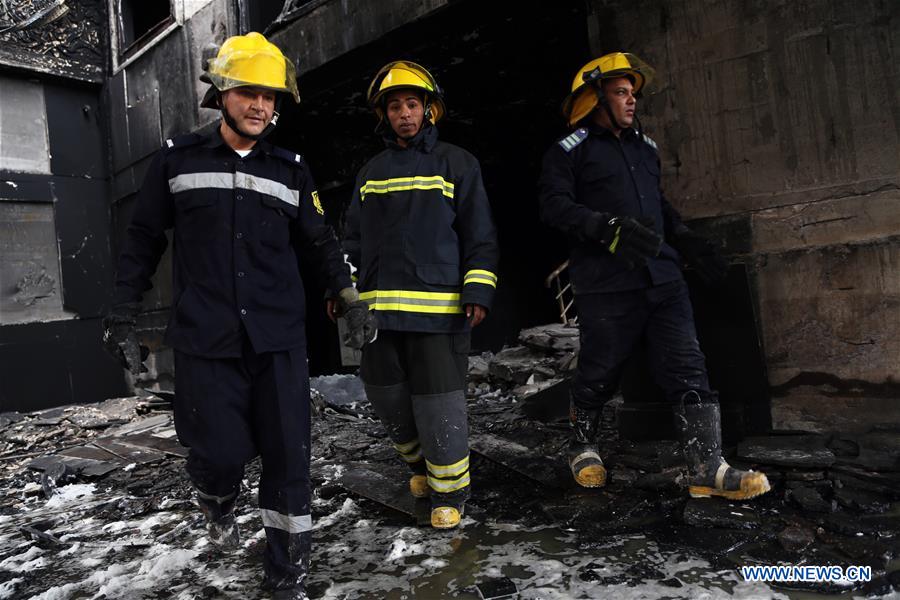
<instances>
[{"instance_id":1,"label":"plain navy jacket with shoulder epaulettes on the man at right","mask_svg":"<svg viewBox=\"0 0 900 600\"><path fill-rule=\"evenodd\" d=\"M599 242L583 236L594 212L652 218L664 238L685 230L659 179L656 144L634 129L623 130L617 138L590 124L547 150L539 181L541 219L566 234L576 294L641 289L682 278L681 258L667 243L646 267L631 270Z\"/></svg>"}]
</instances>

